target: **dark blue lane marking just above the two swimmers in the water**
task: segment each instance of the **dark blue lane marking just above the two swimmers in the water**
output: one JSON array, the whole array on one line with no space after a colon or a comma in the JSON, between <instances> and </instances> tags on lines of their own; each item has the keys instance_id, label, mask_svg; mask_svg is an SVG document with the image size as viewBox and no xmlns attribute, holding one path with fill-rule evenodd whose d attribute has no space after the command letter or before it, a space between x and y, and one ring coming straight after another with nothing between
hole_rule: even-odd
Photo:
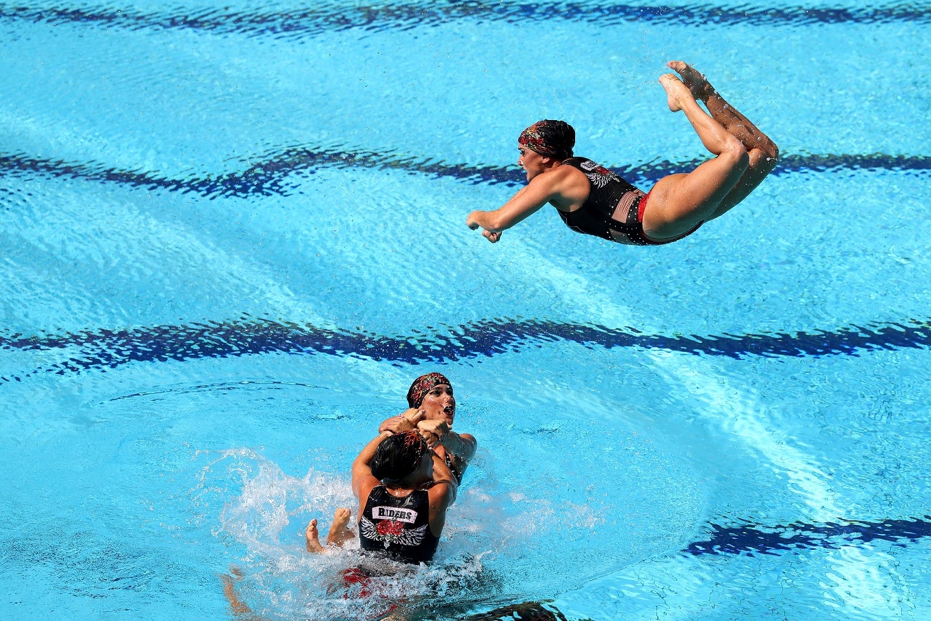
<instances>
[{"instance_id":1,"label":"dark blue lane marking just above the two swimmers in the water","mask_svg":"<svg viewBox=\"0 0 931 621\"><path fill-rule=\"evenodd\" d=\"M738 359L749 356L857 356L880 349L931 346L931 322L850 326L834 331L790 334L664 336L643 334L632 328L617 330L599 325L503 319L444 327L442 331L428 328L410 336L392 337L248 317L226 323L84 331L61 336L5 335L0 332L0 348L7 350L76 349L68 352L68 359L34 371L59 374L115 368L130 362L225 358L274 352L331 354L395 364L440 363L492 357L552 342L577 343L587 347L599 345L608 349L640 347ZM34 372L26 373L26 376ZM20 380L20 377L0 379Z\"/></svg>"}]
</instances>

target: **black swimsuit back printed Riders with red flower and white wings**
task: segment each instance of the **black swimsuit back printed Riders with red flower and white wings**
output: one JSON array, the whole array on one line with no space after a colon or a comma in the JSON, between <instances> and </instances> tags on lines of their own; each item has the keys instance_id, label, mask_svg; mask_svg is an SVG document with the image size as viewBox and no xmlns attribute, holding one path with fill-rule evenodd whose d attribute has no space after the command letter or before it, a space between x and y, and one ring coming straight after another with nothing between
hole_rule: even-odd
<instances>
[{"instance_id":1,"label":"black swimsuit back printed Riders with red flower and white wings","mask_svg":"<svg viewBox=\"0 0 931 621\"><path fill-rule=\"evenodd\" d=\"M420 563L433 559L439 537L430 532L430 498L425 490L414 490L398 498L379 485L369 493L358 520L362 549L401 562Z\"/></svg>"}]
</instances>

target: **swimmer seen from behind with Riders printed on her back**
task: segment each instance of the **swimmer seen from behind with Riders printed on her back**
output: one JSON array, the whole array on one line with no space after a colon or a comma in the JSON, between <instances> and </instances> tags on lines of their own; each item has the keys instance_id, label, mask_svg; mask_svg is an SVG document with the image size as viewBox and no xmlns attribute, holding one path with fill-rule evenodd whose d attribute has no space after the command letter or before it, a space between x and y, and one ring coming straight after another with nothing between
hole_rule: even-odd
<instances>
[{"instance_id":1,"label":"swimmer seen from behind with Riders printed on her back","mask_svg":"<svg viewBox=\"0 0 931 621\"><path fill-rule=\"evenodd\" d=\"M352 465L352 489L359 499L358 533L364 555L404 563L429 562L437 551L446 510L458 483L446 466L442 445L431 449L409 430L383 431L358 454ZM341 547L354 535L349 509L333 515L328 546ZM305 533L308 552L324 552L311 520Z\"/></svg>"}]
</instances>

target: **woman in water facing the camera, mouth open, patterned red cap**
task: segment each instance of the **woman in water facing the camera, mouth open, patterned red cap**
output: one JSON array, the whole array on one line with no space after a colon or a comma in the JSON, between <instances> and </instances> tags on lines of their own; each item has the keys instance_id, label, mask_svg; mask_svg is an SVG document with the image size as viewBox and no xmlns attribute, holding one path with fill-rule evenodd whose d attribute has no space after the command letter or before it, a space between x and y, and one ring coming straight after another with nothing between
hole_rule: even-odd
<instances>
[{"instance_id":1,"label":"woman in water facing the camera, mouth open, patterned red cap","mask_svg":"<svg viewBox=\"0 0 931 621\"><path fill-rule=\"evenodd\" d=\"M415 379L407 394L408 410L385 420L379 431L400 433L417 429L430 443L446 451L456 482L462 483L469 461L475 456L479 441L471 434L452 431L456 417L456 399L452 384L442 373L432 372Z\"/></svg>"}]
</instances>

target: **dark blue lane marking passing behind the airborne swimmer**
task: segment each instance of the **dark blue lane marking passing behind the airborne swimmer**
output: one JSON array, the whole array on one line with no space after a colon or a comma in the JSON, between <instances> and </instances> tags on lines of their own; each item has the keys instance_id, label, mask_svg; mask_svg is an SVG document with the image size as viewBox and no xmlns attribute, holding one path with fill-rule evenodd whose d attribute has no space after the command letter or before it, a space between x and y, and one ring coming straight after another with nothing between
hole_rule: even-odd
<instances>
[{"instance_id":1,"label":"dark blue lane marking passing behind the airborne swimmer","mask_svg":"<svg viewBox=\"0 0 931 621\"><path fill-rule=\"evenodd\" d=\"M630 182L656 182L673 172L688 172L705 160L681 162L666 160L627 167L612 167ZM296 182L287 177L298 172L313 173L317 169L368 168L404 170L432 177L452 177L470 183L504 183L523 185L523 171L516 167L467 166L447 164L410 156L377 154L365 151L335 149L292 148L281 151L259 163L251 164L243 172L192 179L170 179L156 173L137 170L108 169L88 162L68 163L61 160L40 159L29 155L0 154L0 175L45 176L64 179L84 179L111 182L149 190L195 193L208 198L223 196L289 196ZM839 170L897 170L918 174L931 170L931 157L925 155L784 155L771 174L835 172Z\"/></svg>"}]
</instances>

